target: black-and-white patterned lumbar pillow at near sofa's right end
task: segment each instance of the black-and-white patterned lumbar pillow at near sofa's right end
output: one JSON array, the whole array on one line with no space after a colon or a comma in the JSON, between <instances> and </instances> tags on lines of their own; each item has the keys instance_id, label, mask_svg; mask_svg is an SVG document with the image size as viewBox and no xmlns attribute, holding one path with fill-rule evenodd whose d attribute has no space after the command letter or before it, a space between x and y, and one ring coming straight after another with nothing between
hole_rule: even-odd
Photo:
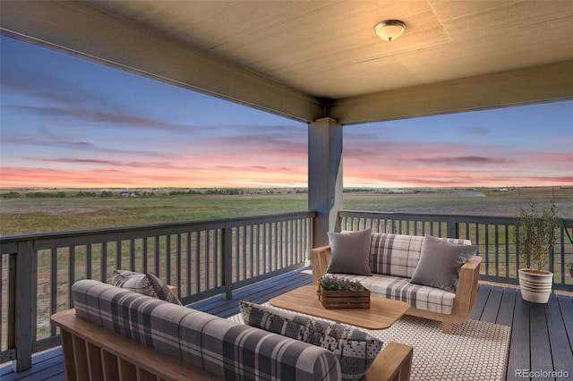
<instances>
[{"instance_id":1,"label":"black-and-white patterned lumbar pillow at near sofa's right end","mask_svg":"<svg viewBox=\"0 0 573 381\"><path fill-rule=\"evenodd\" d=\"M239 307L245 324L249 326L312 343L334 353L340 362L343 379L363 377L382 349L383 343L380 340L352 326L313 319L248 301L239 301Z\"/></svg>"}]
</instances>

